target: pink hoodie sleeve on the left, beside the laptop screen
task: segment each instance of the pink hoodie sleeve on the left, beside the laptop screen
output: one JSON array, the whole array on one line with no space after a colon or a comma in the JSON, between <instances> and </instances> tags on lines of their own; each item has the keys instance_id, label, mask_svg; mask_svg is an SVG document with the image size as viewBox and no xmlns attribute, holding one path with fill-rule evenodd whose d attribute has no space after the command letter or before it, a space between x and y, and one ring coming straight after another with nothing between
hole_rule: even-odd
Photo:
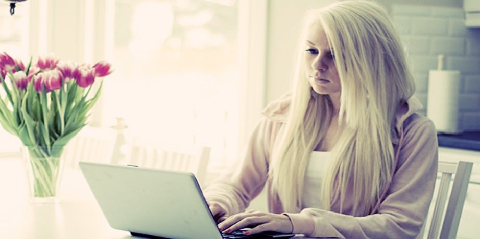
<instances>
[{"instance_id":1,"label":"pink hoodie sleeve on the left, beside the laptop screen","mask_svg":"<svg viewBox=\"0 0 480 239\"><path fill-rule=\"evenodd\" d=\"M243 156L204 190L208 203L215 202L227 215L244 211L263 189L268 173L268 148L276 123L263 117L252 132Z\"/></svg>"}]
</instances>

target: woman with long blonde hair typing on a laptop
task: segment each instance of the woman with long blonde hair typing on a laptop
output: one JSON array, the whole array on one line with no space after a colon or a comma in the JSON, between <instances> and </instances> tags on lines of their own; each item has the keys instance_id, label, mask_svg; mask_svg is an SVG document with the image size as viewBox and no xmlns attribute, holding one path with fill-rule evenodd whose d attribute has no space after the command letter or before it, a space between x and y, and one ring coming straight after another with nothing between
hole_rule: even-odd
<instances>
[{"instance_id":1,"label":"woman with long blonde hair typing on a laptop","mask_svg":"<svg viewBox=\"0 0 480 239\"><path fill-rule=\"evenodd\" d=\"M388 14L369 1L310 11L292 93L272 102L241 163L205 190L219 229L414 238L434 191L437 138L416 112ZM244 212L268 185L269 213Z\"/></svg>"}]
</instances>

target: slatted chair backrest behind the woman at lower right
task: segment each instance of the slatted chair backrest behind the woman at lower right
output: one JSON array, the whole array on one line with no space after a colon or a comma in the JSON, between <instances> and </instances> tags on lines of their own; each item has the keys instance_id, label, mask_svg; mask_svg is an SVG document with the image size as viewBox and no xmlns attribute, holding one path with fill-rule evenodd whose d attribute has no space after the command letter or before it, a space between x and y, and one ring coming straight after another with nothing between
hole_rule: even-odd
<instances>
[{"instance_id":1,"label":"slatted chair backrest behind the woman at lower right","mask_svg":"<svg viewBox=\"0 0 480 239\"><path fill-rule=\"evenodd\" d=\"M426 238L453 239L457 236L472 166L473 163L464 161L439 162L440 183L437 183L437 193L434 195L435 204L432 205L431 220L427 220L424 225L424 228L429 228ZM423 238L423 230L417 238Z\"/></svg>"}]
</instances>

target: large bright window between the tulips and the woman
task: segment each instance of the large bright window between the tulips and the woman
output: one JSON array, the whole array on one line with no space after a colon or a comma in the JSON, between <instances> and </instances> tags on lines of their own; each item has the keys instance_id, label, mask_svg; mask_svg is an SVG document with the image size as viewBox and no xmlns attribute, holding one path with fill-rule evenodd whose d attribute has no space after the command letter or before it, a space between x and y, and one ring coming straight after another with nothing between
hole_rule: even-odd
<instances>
[{"instance_id":1,"label":"large bright window between the tulips and the woman","mask_svg":"<svg viewBox=\"0 0 480 239\"><path fill-rule=\"evenodd\" d=\"M115 71L104 81L102 124L124 118L132 134L152 144L203 144L213 159L233 160L251 130L242 114L255 110L250 117L257 120L260 113L243 109L250 34L242 33L251 27L252 2L113 1L106 45ZM261 108L262 93L249 97Z\"/></svg>"}]
</instances>

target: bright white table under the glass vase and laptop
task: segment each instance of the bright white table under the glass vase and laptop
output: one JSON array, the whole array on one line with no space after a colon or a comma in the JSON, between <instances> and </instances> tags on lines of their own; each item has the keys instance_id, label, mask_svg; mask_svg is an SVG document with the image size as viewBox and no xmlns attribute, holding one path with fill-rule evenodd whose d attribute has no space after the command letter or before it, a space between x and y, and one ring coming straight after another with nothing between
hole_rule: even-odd
<instances>
[{"instance_id":1,"label":"bright white table under the glass vase and laptop","mask_svg":"<svg viewBox=\"0 0 480 239\"><path fill-rule=\"evenodd\" d=\"M28 185L20 159L0 158L0 186L0 238L141 238L108 225L79 169L65 169L61 201L56 204L28 202Z\"/></svg>"}]
</instances>

